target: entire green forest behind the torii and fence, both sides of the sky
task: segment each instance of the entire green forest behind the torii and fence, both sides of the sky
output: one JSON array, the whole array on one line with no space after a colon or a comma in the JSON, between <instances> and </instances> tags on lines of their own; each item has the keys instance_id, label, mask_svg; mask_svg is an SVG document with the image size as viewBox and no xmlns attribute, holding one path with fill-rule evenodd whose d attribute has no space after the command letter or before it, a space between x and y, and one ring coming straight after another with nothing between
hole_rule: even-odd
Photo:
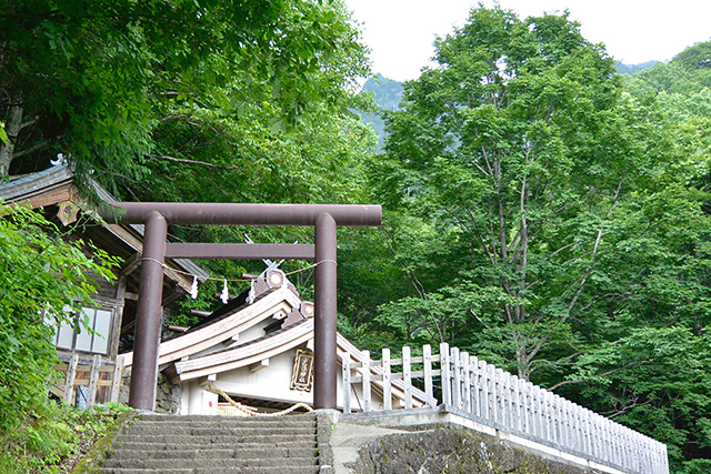
<instances>
[{"instance_id":1,"label":"entire green forest behind the torii and fence, both sides of the sky","mask_svg":"<svg viewBox=\"0 0 711 474\"><path fill-rule=\"evenodd\" d=\"M567 13L478 7L383 113L380 152L340 1L19 0L0 11L0 179L62 153L126 200L382 204L381 230L339 231L348 337L448 342L708 472L710 44L621 75Z\"/></svg>"}]
</instances>

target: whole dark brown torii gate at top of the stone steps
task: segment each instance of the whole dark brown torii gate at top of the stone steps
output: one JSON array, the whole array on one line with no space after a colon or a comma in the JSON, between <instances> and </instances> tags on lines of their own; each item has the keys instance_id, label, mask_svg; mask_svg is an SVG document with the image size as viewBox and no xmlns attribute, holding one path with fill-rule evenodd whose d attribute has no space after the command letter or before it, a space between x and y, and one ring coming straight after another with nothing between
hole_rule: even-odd
<instances>
[{"instance_id":1,"label":"whole dark brown torii gate at top of the stone steps","mask_svg":"<svg viewBox=\"0 0 711 474\"><path fill-rule=\"evenodd\" d=\"M337 225L380 225L379 205L116 202L107 221L146 224L129 405L153 410L166 258L314 260L313 406L334 409L337 396ZM314 244L168 243L168 224L313 225Z\"/></svg>"}]
</instances>

